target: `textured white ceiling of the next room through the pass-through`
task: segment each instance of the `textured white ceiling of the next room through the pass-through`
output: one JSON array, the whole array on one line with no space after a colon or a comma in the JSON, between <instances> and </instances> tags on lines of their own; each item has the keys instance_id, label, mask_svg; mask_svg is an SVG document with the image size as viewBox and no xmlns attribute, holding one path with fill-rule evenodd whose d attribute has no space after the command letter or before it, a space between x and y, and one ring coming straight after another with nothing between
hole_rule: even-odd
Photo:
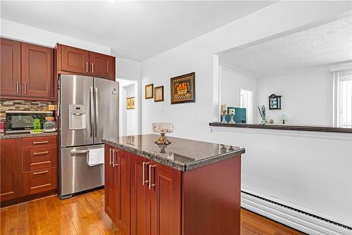
<instances>
[{"instance_id":1,"label":"textured white ceiling of the next room through the pass-through","mask_svg":"<svg viewBox=\"0 0 352 235\"><path fill-rule=\"evenodd\" d=\"M220 53L219 60L256 77L352 61L352 17Z\"/></svg>"}]
</instances>

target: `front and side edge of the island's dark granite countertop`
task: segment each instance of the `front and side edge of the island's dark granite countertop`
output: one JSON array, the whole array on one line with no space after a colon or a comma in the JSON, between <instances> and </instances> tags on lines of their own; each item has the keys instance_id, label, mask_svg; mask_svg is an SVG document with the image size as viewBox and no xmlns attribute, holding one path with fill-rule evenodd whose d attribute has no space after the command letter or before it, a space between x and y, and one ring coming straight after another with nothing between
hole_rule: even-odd
<instances>
[{"instance_id":1,"label":"front and side edge of the island's dark granite countertop","mask_svg":"<svg viewBox=\"0 0 352 235\"><path fill-rule=\"evenodd\" d=\"M210 158L206 158L206 159L203 159L203 160L198 160L198 161L196 161L194 163L181 164L181 163L175 163L173 161L170 161L167 158L161 160L161 158L159 158L158 156L153 155L153 153L142 151L142 150L139 150L137 148L133 148L132 146L126 146L125 144L118 144L118 143L115 143L113 141L109 141L107 139L102 139L101 141L103 141L103 144L109 144L111 146L115 146L115 147L121 148L121 149L123 149L125 151L129 151L129 152L135 153L136 155L139 155L139 156L141 156L143 158L147 158L149 160L153 160L156 163L161 163L163 165L167 165L169 167L175 168L175 169L180 170L182 172L187 172L189 170L194 170L196 168L203 167L203 166L206 166L206 165L210 165L210 164L213 164L213 163L218 163L221 160L225 160L227 158L232 158L232 157L235 157L237 155L241 155L241 154L245 153L245 149L244 148L240 148L237 151L233 151L231 153L224 153L224 154L220 154L220 155L215 155L215 156L210 157Z\"/></svg>"}]
</instances>

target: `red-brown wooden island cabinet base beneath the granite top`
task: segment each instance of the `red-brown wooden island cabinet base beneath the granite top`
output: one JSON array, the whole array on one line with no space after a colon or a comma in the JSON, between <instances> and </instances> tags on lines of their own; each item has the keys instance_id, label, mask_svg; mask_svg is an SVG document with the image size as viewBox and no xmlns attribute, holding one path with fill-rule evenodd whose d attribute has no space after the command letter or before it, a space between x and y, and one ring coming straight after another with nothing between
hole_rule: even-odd
<instances>
[{"instance_id":1,"label":"red-brown wooden island cabinet base beneath the granite top","mask_svg":"<svg viewBox=\"0 0 352 235\"><path fill-rule=\"evenodd\" d=\"M239 235L240 155L181 172L105 149L105 210L121 234Z\"/></svg>"}]
</instances>

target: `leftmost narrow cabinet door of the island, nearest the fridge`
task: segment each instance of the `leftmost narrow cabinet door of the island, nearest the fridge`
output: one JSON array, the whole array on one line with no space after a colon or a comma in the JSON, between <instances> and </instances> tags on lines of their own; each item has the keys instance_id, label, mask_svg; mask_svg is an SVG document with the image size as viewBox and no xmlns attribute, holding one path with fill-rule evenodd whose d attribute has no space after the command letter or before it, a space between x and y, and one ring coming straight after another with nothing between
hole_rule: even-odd
<instances>
[{"instance_id":1,"label":"leftmost narrow cabinet door of the island, nearest the fridge","mask_svg":"<svg viewBox=\"0 0 352 235\"><path fill-rule=\"evenodd\" d=\"M105 180L105 200L104 208L106 214L115 222L115 171L113 168L113 147L105 145L104 180Z\"/></svg>"}]
</instances>

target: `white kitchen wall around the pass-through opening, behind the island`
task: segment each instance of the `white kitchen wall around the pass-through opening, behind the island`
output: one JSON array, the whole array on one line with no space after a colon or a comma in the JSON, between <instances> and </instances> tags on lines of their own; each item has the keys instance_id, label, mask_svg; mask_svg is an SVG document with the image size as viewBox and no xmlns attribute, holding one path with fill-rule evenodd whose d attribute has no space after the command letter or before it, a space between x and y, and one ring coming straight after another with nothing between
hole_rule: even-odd
<instances>
[{"instance_id":1,"label":"white kitchen wall around the pass-through opening, behind the island","mask_svg":"<svg viewBox=\"0 0 352 235\"><path fill-rule=\"evenodd\" d=\"M234 146L244 146L247 149L244 158L247 160L243 162L242 169L244 172L251 172L254 167L256 174L253 174L254 178L249 178L251 177L250 174L243 174L242 186L250 187L253 191L263 192L268 196L277 195L282 201L296 203L301 205L302 208L306 208L306 210L315 211L315 214L318 215L331 215L334 220L344 221L351 225L352 205L346 201L346 199L351 199L351 182L346 182L346 187L341 186L341 184L338 184L337 188L333 187L337 190L333 201L322 196L312 203L313 197L320 194L315 192L316 188L310 188L312 182L320 174L329 174L329 177L332 177L329 182L339 182L341 180L341 169L344 170L344 177L346 175L351 176L351 162L346 161L346 159L351 159L352 152L345 146L344 142L334 141L334 144L328 144L326 141L309 145L305 138L298 138L293 140L290 145L291 148L296 146L293 152L295 154L289 153L286 155L287 151L284 146L289 145L289 137L278 153L272 151L279 144L270 140L271 134L262 136L261 139L253 139L249 138L248 135L243 135L246 141L239 141L242 137L239 133L215 135L211 134L208 127L209 122L219 118L219 81L218 71L215 70L215 68L218 68L218 62L214 54L263 40L267 37L273 37L276 34L287 31L294 32L298 28L306 27L305 25L346 11L351 11L351 4L346 1L279 1L208 34L165 51L158 56L149 58L142 63L142 88L144 89L144 85L149 83L153 83L154 86L163 85L165 101L154 103L150 99L142 99L142 133L151 133L152 122L173 122L175 132L172 135L174 136L202 141L226 141ZM171 105L170 77L189 72L196 72L196 103ZM252 136L256 136L256 134ZM258 141L260 142L256 146L255 144ZM318 146L324 146L324 149L318 151L316 149ZM338 154L334 155L333 153L337 153L337 148L339 148ZM261 153L262 151L263 153ZM290 163L293 163L298 154L301 160L306 159L304 165L306 169L316 169L314 163L319 157L325 159L322 162L325 163L325 167L322 168L321 172L318 169L307 172L305 179L299 178L300 181L297 181L296 174L289 173L292 171L299 172L302 165L295 164L284 167L280 164L283 160L276 163L275 159L287 158ZM260 158L262 158L260 160L262 164L257 165L256 160ZM333 167L329 167L332 158L336 161ZM301 161L298 162L301 163ZM291 171L285 171L282 167L284 169L291 168ZM346 173L347 170L349 170L348 173ZM260 176L268 175L270 171L273 171L270 178L272 182L275 182L275 186L268 187L265 190L263 185L268 184L267 180L270 178ZM320 186L322 184L323 182ZM320 192L329 193L332 189L329 186L330 184L321 186ZM292 191L291 189L297 190ZM286 192L290 193L289 198L285 196ZM332 202L344 203L346 209L337 210L332 205L330 206Z\"/></svg>"}]
</instances>

